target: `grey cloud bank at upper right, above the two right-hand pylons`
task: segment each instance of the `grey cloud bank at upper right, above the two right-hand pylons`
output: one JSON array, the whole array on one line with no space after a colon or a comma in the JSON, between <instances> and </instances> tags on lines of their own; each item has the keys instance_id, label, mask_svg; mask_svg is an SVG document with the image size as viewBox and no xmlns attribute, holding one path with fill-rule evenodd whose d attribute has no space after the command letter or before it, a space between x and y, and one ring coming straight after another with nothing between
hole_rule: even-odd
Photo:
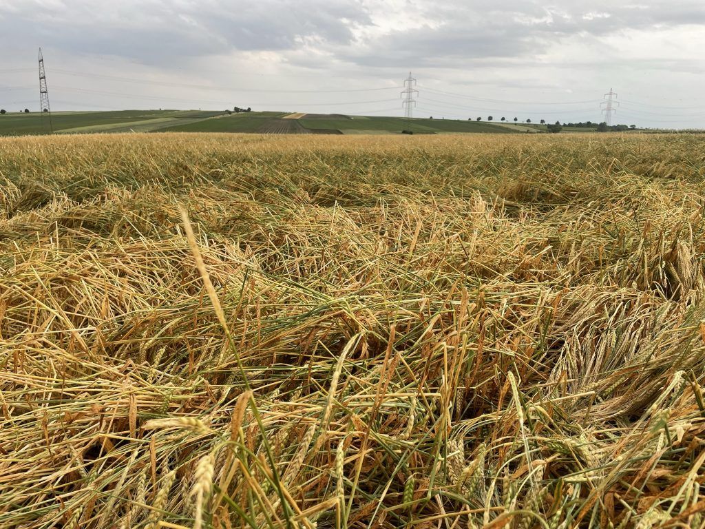
<instances>
[{"instance_id":1,"label":"grey cloud bank at upper right, above the two right-hand pylons","mask_svg":"<svg viewBox=\"0 0 705 529\"><path fill-rule=\"evenodd\" d=\"M339 51L364 66L413 63L426 67L464 66L477 59L514 59L541 54L557 39L604 37L624 30L705 24L700 0L649 6L615 6L613 2L446 1L426 10L424 28L391 32L362 47ZM375 52L371 53L370 50Z\"/></svg>"}]
</instances>

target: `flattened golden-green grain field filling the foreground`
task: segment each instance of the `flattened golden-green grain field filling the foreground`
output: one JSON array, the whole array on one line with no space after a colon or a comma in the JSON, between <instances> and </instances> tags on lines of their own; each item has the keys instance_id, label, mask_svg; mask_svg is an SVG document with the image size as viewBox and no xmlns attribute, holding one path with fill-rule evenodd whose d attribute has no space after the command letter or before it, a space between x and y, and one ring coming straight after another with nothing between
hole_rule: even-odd
<instances>
[{"instance_id":1,"label":"flattened golden-green grain field filling the foreground","mask_svg":"<svg viewBox=\"0 0 705 529\"><path fill-rule=\"evenodd\" d=\"M0 138L0 527L702 527L704 153Z\"/></svg>"}]
</instances>

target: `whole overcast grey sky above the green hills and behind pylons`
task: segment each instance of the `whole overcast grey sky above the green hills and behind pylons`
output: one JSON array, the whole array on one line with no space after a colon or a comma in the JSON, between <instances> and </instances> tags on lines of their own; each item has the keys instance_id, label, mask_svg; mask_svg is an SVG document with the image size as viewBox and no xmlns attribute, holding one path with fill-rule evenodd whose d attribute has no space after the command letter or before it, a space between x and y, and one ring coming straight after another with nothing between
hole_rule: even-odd
<instances>
[{"instance_id":1,"label":"whole overcast grey sky above the green hills and behind pylons","mask_svg":"<svg viewBox=\"0 0 705 529\"><path fill-rule=\"evenodd\" d=\"M705 128L704 0L0 0L0 108L225 109Z\"/></svg>"}]
</instances>

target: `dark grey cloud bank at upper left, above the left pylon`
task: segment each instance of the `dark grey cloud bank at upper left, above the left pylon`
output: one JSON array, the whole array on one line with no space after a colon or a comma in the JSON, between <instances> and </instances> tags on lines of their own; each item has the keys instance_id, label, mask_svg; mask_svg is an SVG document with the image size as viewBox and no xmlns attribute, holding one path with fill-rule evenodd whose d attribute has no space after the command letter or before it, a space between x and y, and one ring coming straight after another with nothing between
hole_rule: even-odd
<instances>
[{"instance_id":1,"label":"dark grey cloud bank at upper left, above the left pylon","mask_svg":"<svg viewBox=\"0 0 705 529\"><path fill-rule=\"evenodd\" d=\"M0 3L11 16L8 39L35 37L66 51L92 51L129 59L204 56L228 51L282 51L314 39L351 42L351 25L369 24L357 0L329 2L121 1L116 6L86 0Z\"/></svg>"}]
</instances>

